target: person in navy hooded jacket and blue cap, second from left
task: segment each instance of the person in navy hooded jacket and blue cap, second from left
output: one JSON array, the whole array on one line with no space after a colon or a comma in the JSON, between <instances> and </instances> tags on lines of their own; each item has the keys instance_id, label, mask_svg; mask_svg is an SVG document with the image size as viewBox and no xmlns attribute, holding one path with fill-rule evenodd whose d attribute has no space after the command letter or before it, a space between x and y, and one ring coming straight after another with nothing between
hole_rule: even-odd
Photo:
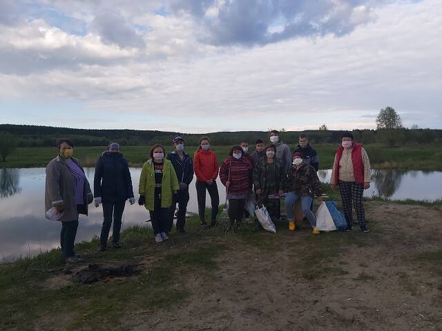
<instances>
[{"instance_id":1,"label":"person in navy hooded jacket and blue cap, second from left","mask_svg":"<svg viewBox=\"0 0 442 331\"><path fill-rule=\"evenodd\" d=\"M103 152L95 165L94 197L95 207L103 203L104 221L99 238L100 250L106 250L112 221L112 245L113 248L120 248L119 231L122 228L124 204L129 199L133 205L135 198L129 165L120 153L118 143L110 143L108 150Z\"/></svg>"}]
</instances>

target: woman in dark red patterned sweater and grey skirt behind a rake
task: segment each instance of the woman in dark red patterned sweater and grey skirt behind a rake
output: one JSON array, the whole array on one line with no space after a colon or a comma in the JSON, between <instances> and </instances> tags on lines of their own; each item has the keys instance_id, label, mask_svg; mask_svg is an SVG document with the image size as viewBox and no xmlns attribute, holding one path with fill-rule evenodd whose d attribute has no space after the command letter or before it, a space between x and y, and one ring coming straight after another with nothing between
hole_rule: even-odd
<instances>
[{"instance_id":1,"label":"woman in dark red patterned sweater and grey skirt behind a rake","mask_svg":"<svg viewBox=\"0 0 442 331\"><path fill-rule=\"evenodd\" d=\"M220 179L227 188L229 199L229 219L233 225L239 224L244 214L244 205L252 186L253 162L244 155L241 146L233 146L230 156L220 169Z\"/></svg>"}]
</instances>

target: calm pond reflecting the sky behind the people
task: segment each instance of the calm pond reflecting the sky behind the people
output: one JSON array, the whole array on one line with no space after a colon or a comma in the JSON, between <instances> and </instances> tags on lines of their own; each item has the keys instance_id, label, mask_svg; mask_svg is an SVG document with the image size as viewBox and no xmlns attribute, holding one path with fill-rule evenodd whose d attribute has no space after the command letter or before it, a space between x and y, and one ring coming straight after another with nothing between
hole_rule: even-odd
<instances>
[{"instance_id":1,"label":"calm pond reflecting the sky behind the people","mask_svg":"<svg viewBox=\"0 0 442 331\"><path fill-rule=\"evenodd\" d=\"M93 185L94 168L86 168L86 176ZM131 168L135 197L141 168ZM320 170L321 181L328 182L331 170ZM0 262L13 257L45 252L59 246L61 225L44 217L44 168L0 169ZM442 197L442 172L373 170L372 188L365 195L382 195L391 199L435 200ZM220 203L224 203L224 186L218 179ZM210 205L209 194L206 198ZM190 185L190 212L198 212L195 181ZM137 203L126 203L123 227L146 224L148 211ZM102 208L90 205L89 216L80 216L77 241L99 234Z\"/></svg>"}]
</instances>

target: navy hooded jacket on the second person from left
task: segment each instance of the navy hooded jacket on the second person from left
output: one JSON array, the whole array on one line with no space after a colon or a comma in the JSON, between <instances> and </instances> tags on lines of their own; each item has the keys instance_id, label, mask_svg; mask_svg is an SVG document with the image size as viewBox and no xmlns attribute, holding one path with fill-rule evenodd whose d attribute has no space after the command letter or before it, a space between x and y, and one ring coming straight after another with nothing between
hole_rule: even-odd
<instances>
[{"instance_id":1,"label":"navy hooded jacket on the second person from left","mask_svg":"<svg viewBox=\"0 0 442 331\"><path fill-rule=\"evenodd\" d=\"M104 152L95 165L94 197L125 201L133 197L129 165L120 153Z\"/></svg>"}]
</instances>

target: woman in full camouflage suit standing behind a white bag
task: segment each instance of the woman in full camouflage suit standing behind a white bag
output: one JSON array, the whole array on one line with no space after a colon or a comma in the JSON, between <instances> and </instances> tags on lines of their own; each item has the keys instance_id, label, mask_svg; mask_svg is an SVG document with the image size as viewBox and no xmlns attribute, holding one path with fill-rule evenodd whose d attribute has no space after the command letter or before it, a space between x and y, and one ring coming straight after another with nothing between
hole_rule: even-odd
<instances>
[{"instance_id":1,"label":"woman in full camouflage suit standing behind a white bag","mask_svg":"<svg viewBox=\"0 0 442 331\"><path fill-rule=\"evenodd\" d=\"M258 196L258 205L265 205L273 221L280 212L278 195L284 193L282 185L285 183L284 167L275 154L275 146L267 146L264 159L258 160L253 168L253 186Z\"/></svg>"}]
</instances>

